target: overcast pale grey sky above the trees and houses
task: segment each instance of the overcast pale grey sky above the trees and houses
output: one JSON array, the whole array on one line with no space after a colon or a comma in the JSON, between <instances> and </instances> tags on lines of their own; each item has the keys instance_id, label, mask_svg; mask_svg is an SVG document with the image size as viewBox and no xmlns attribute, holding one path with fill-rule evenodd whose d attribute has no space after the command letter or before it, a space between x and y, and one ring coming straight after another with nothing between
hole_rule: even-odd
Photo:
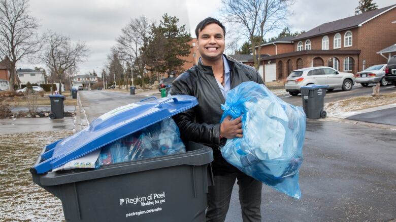
<instances>
[{"instance_id":1,"label":"overcast pale grey sky above the trees and houses","mask_svg":"<svg viewBox=\"0 0 396 222\"><path fill-rule=\"evenodd\" d=\"M377 0L378 8L395 4L394 0ZM290 8L293 15L288 24L294 31L310 30L325 22L354 15L358 0L295 0ZM30 0L30 14L41 25L40 31L51 29L73 40L86 42L90 49L87 61L79 65L79 74L93 69L100 73L105 67L106 57L115 39L131 18L141 15L159 22L164 13L180 19L186 30L195 37L194 29L206 17L221 18L218 13L221 0ZM227 27L227 26L226 26ZM227 27L228 28L228 27ZM272 37L271 33L265 38ZM17 64L18 68L34 68L40 64L27 62Z\"/></svg>"}]
</instances>

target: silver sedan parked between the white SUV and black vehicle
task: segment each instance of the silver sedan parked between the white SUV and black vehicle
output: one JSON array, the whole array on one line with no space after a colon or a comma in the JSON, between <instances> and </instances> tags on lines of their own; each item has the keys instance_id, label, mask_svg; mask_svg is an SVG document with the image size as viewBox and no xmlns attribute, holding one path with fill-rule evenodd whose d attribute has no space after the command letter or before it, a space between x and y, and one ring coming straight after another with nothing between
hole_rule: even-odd
<instances>
[{"instance_id":1,"label":"silver sedan parked between the white SUV and black vehicle","mask_svg":"<svg viewBox=\"0 0 396 222\"><path fill-rule=\"evenodd\" d=\"M380 82L382 86L387 85L385 80L385 67L386 64L374 65L355 74L357 83L362 86L368 86L370 83Z\"/></svg>"}]
</instances>

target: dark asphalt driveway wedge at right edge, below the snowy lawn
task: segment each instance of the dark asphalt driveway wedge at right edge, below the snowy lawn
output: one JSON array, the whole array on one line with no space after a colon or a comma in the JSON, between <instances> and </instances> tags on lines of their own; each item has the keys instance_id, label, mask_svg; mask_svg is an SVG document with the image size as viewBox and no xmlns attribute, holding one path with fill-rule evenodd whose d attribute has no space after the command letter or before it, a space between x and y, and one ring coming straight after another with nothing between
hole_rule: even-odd
<instances>
[{"instance_id":1,"label":"dark asphalt driveway wedge at right edge, below the snowy lawn","mask_svg":"<svg viewBox=\"0 0 396 222\"><path fill-rule=\"evenodd\" d=\"M362 113L348 117L347 119L387 125L396 125L396 107L378 110L375 112Z\"/></svg>"}]
</instances>

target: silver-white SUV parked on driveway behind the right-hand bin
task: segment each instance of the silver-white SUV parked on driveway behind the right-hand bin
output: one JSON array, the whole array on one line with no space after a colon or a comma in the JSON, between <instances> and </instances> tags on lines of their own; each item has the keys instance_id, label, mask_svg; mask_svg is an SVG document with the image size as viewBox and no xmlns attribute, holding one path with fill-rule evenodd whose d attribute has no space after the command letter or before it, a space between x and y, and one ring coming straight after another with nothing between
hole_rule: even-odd
<instances>
[{"instance_id":1,"label":"silver-white SUV parked on driveway behind the right-hand bin","mask_svg":"<svg viewBox=\"0 0 396 222\"><path fill-rule=\"evenodd\" d=\"M327 91L333 91L335 88L350 91L355 84L355 76L352 73L339 72L327 66L294 70L286 80L285 89L291 96L299 95L300 88L310 84L328 85Z\"/></svg>"}]
</instances>

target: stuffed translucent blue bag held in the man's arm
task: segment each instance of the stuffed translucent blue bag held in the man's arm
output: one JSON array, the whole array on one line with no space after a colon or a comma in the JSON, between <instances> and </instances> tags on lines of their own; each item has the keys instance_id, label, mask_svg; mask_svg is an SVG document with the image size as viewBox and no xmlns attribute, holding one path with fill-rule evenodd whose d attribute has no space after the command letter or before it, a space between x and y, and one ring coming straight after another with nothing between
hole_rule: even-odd
<instances>
[{"instance_id":1,"label":"stuffed translucent blue bag held in the man's arm","mask_svg":"<svg viewBox=\"0 0 396 222\"><path fill-rule=\"evenodd\" d=\"M230 90L221 121L242 115L243 138L227 140L224 159L247 175L300 199L306 115L275 96L263 84L243 82Z\"/></svg>"}]
</instances>

